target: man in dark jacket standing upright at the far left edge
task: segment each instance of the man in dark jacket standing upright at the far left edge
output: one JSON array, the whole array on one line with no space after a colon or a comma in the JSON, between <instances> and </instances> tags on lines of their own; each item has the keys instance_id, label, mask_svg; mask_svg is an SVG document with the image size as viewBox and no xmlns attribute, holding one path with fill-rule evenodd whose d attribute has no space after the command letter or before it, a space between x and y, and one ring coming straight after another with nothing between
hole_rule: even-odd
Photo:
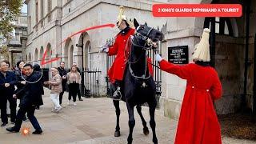
<instances>
[{"instance_id":1,"label":"man in dark jacket standing upright at the far left edge","mask_svg":"<svg viewBox=\"0 0 256 144\"><path fill-rule=\"evenodd\" d=\"M13 98L14 84L16 83L16 75L8 70L8 64L6 62L0 62L0 107L1 107L1 119L2 125L6 126L8 118L6 114L7 100L10 103L10 122L14 123L16 119L16 106L17 100Z\"/></svg>"}]
</instances>

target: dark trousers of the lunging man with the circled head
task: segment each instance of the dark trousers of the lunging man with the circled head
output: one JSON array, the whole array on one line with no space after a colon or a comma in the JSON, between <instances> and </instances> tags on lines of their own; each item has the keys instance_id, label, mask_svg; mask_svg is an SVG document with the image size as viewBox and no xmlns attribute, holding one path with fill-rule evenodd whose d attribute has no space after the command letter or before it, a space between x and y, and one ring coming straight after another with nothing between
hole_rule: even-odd
<instances>
[{"instance_id":1,"label":"dark trousers of the lunging man with the circled head","mask_svg":"<svg viewBox=\"0 0 256 144\"><path fill-rule=\"evenodd\" d=\"M35 130L42 130L37 118L35 118L34 116L34 110L35 110L35 106L22 106L20 107L20 109L18 110L17 113L17 119L15 122L15 126L14 129L15 130L20 130L21 126L22 126L22 119L24 118L25 114L27 115L27 117L30 119L30 122L32 124L32 126L34 127Z\"/></svg>"}]
</instances>

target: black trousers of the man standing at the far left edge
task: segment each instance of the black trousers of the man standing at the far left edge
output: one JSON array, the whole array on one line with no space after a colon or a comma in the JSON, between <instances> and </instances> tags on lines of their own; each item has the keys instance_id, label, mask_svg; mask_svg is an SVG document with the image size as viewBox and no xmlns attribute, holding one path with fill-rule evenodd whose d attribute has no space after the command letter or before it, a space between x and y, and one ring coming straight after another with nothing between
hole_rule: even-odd
<instances>
[{"instance_id":1,"label":"black trousers of the man standing at the far left edge","mask_svg":"<svg viewBox=\"0 0 256 144\"><path fill-rule=\"evenodd\" d=\"M16 120L16 107L17 107L17 99L13 98L13 96L2 96L0 98L0 107L1 107L1 120L2 122L8 122L8 117L6 114L6 108L7 108L7 100L10 103L10 122L15 122Z\"/></svg>"}]
</instances>

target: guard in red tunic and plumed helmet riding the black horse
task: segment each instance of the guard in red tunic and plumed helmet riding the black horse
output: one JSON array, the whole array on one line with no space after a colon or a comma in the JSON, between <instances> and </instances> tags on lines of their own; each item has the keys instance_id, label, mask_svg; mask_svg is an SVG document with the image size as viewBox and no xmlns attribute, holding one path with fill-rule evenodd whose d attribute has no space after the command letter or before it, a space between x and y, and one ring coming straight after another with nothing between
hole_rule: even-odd
<instances>
[{"instance_id":1,"label":"guard in red tunic and plumed helmet riding the black horse","mask_svg":"<svg viewBox=\"0 0 256 144\"><path fill-rule=\"evenodd\" d=\"M113 65L110 70L108 70L108 76L110 82L114 85L115 91L112 95L114 100L121 100L122 98L122 79L124 72L126 70L126 43L131 35L134 35L135 29L133 22L130 22L124 13L124 7L119 7L117 26L120 32L115 37L114 45L112 46L102 46L101 51L105 52L109 56L116 55ZM150 61L150 59L149 59ZM150 67L150 73L153 74L153 68Z\"/></svg>"}]
</instances>

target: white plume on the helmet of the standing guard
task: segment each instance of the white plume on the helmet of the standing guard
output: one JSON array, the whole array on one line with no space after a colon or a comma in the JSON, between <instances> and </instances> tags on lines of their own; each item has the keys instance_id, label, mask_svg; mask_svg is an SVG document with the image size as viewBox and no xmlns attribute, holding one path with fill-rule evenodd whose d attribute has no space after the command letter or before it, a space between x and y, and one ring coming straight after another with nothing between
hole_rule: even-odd
<instances>
[{"instance_id":1,"label":"white plume on the helmet of the standing guard","mask_svg":"<svg viewBox=\"0 0 256 144\"><path fill-rule=\"evenodd\" d=\"M202 32L202 38L198 44L194 46L194 53L192 55L193 61L210 62L210 44L209 44L210 30L205 28Z\"/></svg>"}]
</instances>

